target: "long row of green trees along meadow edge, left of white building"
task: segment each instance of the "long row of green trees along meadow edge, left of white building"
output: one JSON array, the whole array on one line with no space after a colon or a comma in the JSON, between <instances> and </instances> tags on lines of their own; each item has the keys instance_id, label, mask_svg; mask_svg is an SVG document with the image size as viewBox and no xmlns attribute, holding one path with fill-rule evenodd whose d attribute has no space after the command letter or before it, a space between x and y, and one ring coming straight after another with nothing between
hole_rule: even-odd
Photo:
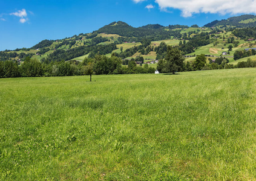
<instances>
[{"instance_id":1,"label":"long row of green trees along meadow edge, left of white building","mask_svg":"<svg viewBox=\"0 0 256 181\"><path fill-rule=\"evenodd\" d=\"M42 76L72 76L72 75L100 75L100 74L148 74L156 69L148 65L137 66L134 60L128 63L128 67L122 66L119 57L110 58L97 55L94 59L86 58L83 62L71 60L68 62L39 62L36 59L26 57L24 63L19 66L17 62L7 60L0 61L0 77L42 77Z\"/></svg>"}]
</instances>

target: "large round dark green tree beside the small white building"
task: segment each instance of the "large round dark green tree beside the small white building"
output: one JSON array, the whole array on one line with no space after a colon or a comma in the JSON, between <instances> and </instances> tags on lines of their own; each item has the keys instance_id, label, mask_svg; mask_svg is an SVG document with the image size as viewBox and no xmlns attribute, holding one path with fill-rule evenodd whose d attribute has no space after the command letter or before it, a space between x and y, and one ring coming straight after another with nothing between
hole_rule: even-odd
<instances>
[{"instance_id":1,"label":"large round dark green tree beside the small white building","mask_svg":"<svg viewBox=\"0 0 256 181\"><path fill-rule=\"evenodd\" d=\"M175 74L177 71L181 71L184 60L185 59L178 48L168 46L165 57L165 71L172 72L172 74Z\"/></svg>"}]
</instances>

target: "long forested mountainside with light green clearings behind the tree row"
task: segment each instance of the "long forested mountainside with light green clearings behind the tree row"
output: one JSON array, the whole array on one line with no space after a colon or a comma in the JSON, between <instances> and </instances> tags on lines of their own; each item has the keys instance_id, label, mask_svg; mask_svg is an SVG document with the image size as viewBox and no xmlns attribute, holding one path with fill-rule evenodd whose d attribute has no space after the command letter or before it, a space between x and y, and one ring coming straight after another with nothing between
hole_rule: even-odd
<instances>
[{"instance_id":1,"label":"long forested mountainside with light green clearings behind the tree row","mask_svg":"<svg viewBox=\"0 0 256 181\"><path fill-rule=\"evenodd\" d=\"M22 63L26 57L30 57L40 62L61 62L84 60L85 57L94 58L97 55L110 57L113 54L121 59L164 59L168 45L177 46L183 56L191 56L197 49L210 44L215 48L211 51L222 50L228 46L237 47L239 44L241 47L251 48L254 46L252 42L242 45L242 40L248 42L254 39L255 15L229 17L227 20L211 22L202 28L198 25L164 27L159 24L136 28L118 21L92 33L80 33L58 40L42 40L31 48L0 51L0 61L18 60ZM208 53L210 52L206 51Z\"/></svg>"}]
</instances>

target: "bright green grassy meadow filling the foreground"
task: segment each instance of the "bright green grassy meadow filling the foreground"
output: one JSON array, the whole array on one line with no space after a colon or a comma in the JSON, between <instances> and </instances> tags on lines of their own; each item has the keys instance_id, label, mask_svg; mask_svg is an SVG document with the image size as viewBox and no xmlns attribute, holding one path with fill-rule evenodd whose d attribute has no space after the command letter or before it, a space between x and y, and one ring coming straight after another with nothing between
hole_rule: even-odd
<instances>
[{"instance_id":1,"label":"bright green grassy meadow filling the foreground","mask_svg":"<svg viewBox=\"0 0 256 181\"><path fill-rule=\"evenodd\" d=\"M256 69L0 79L0 180L256 180Z\"/></svg>"}]
</instances>

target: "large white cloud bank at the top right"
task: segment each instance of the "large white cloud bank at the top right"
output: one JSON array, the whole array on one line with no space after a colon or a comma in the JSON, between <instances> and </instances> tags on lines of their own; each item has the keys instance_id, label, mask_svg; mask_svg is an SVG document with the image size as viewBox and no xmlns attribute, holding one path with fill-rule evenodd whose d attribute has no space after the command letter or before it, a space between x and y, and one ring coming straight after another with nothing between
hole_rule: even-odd
<instances>
[{"instance_id":1,"label":"large white cloud bank at the top right","mask_svg":"<svg viewBox=\"0 0 256 181\"><path fill-rule=\"evenodd\" d=\"M228 13L256 13L256 1L254 0L155 0L155 2L159 4L161 10L166 10L166 8L181 10L183 17L190 17L196 13L222 15Z\"/></svg>"}]
</instances>

